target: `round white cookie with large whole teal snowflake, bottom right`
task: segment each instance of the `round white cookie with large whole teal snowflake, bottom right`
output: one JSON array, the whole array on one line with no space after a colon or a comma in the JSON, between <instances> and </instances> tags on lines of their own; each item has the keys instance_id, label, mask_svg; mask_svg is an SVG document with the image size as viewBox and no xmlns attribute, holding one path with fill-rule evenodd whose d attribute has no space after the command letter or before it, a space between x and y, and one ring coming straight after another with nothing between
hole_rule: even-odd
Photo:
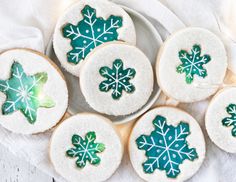
<instances>
[{"instance_id":1,"label":"round white cookie with large whole teal snowflake, bottom right","mask_svg":"<svg viewBox=\"0 0 236 182\"><path fill-rule=\"evenodd\" d=\"M155 108L135 124L129 155L144 180L182 182L198 171L205 158L204 136L188 113L173 107Z\"/></svg>"}]
</instances>

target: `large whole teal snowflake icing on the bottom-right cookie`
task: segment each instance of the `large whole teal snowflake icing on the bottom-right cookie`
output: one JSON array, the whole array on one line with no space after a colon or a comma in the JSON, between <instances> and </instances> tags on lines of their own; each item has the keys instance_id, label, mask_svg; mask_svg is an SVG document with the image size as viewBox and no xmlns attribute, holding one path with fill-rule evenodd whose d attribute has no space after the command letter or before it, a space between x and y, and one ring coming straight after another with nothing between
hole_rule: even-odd
<instances>
[{"instance_id":1,"label":"large whole teal snowflake icing on the bottom-right cookie","mask_svg":"<svg viewBox=\"0 0 236 182\"><path fill-rule=\"evenodd\" d=\"M180 122L178 126L166 124L166 118L158 115L150 135L141 135L136 139L138 149L145 150L147 160L142 164L145 173L155 169L165 170L167 177L176 178L180 173L179 165L185 159L198 158L196 149L189 148L186 137L190 134L189 125Z\"/></svg>"}]
</instances>

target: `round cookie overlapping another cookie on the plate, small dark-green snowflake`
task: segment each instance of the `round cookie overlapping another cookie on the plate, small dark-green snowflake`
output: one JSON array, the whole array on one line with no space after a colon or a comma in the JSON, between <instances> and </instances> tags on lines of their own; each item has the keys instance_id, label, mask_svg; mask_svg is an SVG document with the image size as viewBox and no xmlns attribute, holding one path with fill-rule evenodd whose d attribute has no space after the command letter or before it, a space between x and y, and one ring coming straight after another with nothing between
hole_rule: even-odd
<instances>
[{"instance_id":1,"label":"round cookie overlapping another cookie on the plate, small dark-green snowflake","mask_svg":"<svg viewBox=\"0 0 236 182\"><path fill-rule=\"evenodd\" d=\"M127 115L148 101L153 79L151 63L138 48L121 42L107 43L85 60L80 88L94 110Z\"/></svg>"}]
</instances>

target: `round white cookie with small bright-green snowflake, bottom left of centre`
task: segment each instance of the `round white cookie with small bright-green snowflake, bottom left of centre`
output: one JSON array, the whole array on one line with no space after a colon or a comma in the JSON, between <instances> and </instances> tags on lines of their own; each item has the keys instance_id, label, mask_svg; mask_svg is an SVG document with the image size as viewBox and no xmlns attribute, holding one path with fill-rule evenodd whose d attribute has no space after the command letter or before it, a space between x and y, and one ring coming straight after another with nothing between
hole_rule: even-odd
<instances>
[{"instance_id":1,"label":"round white cookie with small bright-green snowflake, bottom left of centre","mask_svg":"<svg viewBox=\"0 0 236 182\"><path fill-rule=\"evenodd\" d=\"M49 154L55 170L68 181L99 182L120 165L123 144L110 120L82 113L56 128Z\"/></svg>"}]
</instances>

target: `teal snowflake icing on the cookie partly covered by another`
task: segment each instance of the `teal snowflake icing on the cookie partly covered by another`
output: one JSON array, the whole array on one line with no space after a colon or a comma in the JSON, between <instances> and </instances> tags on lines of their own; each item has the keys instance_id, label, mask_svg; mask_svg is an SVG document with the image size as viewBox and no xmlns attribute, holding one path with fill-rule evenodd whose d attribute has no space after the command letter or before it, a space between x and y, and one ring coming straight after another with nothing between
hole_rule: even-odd
<instances>
[{"instance_id":1,"label":"teal snowflake icing on the cookie partly covered by another","mask_svg":"<svg viewBox=\"0 0 236 182\"><path fill-rule=\"evenodd\" d=\"M83 20L77 25L66 24L63 36L71 40L72 50L67 53L70 63L78 64L95 47L118 39L117 29L122 27L122 18L111 15L107 20L96 17L96 10L86 5L81 11Z\"/></svg>"}]
</instances>

